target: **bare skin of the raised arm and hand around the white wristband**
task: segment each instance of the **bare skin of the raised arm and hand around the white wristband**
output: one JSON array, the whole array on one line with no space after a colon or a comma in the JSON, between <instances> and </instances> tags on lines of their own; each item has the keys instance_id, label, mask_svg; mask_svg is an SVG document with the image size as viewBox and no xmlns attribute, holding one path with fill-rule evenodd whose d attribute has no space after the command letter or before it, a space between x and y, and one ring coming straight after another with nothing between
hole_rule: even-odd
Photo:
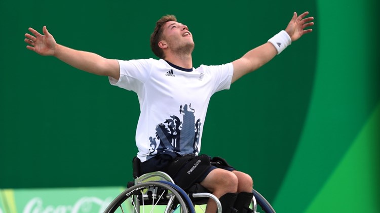
<instances>
[{"instance_id":1,"label":"bare skin of the raised arm and hand around the white wristband","mask_svg":"<svg viewBox=\"0 0 380 213\"><path fill-rule=\"evenodd\" d=\"M295 41L303 34L312 31L312 29L306 29L307 27L314 25L314 22L311 22L314 20L313 17L305 18L308 14L309 12L305 12L297 16L296 12L293 13L293 17L285 29L285 32L289 35L291 41ZM236 81L243 75L260 68L262 65L272 60L277 54L278 51L271 42L267 42L249 51L240 59L232 62L234 65L232 82Z\"/></svg>"}]
</instances>

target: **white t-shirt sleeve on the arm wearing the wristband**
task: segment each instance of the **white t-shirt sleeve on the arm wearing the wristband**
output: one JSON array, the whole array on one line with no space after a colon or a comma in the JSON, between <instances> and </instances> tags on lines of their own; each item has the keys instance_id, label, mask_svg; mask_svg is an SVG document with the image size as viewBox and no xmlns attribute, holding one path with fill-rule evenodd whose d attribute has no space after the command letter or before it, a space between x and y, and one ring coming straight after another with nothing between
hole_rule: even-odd
<instances>
[{"instance_id":1,"label":"white t-shirt sleeve on the arm wearing the wristband","mask_svg":"<svg viewBox=\"0 0 380 213\"><path fill-rule=\"evenodd\" d=\"M229 90L234 74L234 66L232 63L222 64L217 66L207 66L212 80L214 82L214 91L216 93L221 90Z\"/></svg>"}]
</instances>

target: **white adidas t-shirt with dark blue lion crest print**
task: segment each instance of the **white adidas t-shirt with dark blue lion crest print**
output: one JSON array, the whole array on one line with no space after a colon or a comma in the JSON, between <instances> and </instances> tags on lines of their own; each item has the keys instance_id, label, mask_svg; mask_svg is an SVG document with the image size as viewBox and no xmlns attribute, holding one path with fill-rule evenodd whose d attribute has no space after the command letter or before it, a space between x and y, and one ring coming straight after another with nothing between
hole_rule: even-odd
<instances>
[{"instance_id":1,"label":"white adidas t-shirt with dark blue lion crest print","mask_svg":"<svg viewBox=\"0 0 380 213\"><path fill-rule=\"evenodd\" d=\"M197 154L211 96L230 89L232 63L184 69L163 59L122 61L112 85L134 91L140 103L136 130L137 157L174 151Z\"/></svg>"}]
</instances>

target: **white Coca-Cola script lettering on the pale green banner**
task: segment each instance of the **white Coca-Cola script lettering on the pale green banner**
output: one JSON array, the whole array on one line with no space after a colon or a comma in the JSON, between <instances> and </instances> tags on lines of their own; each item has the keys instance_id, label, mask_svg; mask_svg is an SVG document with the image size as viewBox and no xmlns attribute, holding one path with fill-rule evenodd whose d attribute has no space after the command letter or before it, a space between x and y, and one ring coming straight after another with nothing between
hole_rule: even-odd
<instances>
[{"instance_id":1,"label":"white Coca-Cola script lettering on the pale green banner","mask_svg":"<svg viewBox=\"0 0 380 213\"><path fill-rule=\"evenodd\" d=\"M42 198L34 197L25 205L23 213L87 213L103 212L112 198L82 197L72 205L44 205ZM2 211L0 210L0 213Z\"/></svg>"}]
</instances>

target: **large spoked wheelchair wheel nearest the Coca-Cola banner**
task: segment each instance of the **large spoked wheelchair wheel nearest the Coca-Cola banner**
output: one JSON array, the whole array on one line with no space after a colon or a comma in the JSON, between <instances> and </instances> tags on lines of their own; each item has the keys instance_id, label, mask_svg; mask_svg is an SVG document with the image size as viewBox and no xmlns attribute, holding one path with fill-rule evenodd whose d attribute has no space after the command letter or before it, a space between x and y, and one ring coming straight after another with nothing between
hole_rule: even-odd
<instances>
[{"instance_id":1,"label":"large spoked wheelchair wheel nearest the Coca-Cola banner","mask_svg":"<svg viewBox=\"0 0 380 213\"><path fill-rule=\"evenodd\" d=\"M122 192L104 211L113 212L188 213L189 210L187 202L173 187L150 181L134 185Z\"/></svg>"}]
</instances>

